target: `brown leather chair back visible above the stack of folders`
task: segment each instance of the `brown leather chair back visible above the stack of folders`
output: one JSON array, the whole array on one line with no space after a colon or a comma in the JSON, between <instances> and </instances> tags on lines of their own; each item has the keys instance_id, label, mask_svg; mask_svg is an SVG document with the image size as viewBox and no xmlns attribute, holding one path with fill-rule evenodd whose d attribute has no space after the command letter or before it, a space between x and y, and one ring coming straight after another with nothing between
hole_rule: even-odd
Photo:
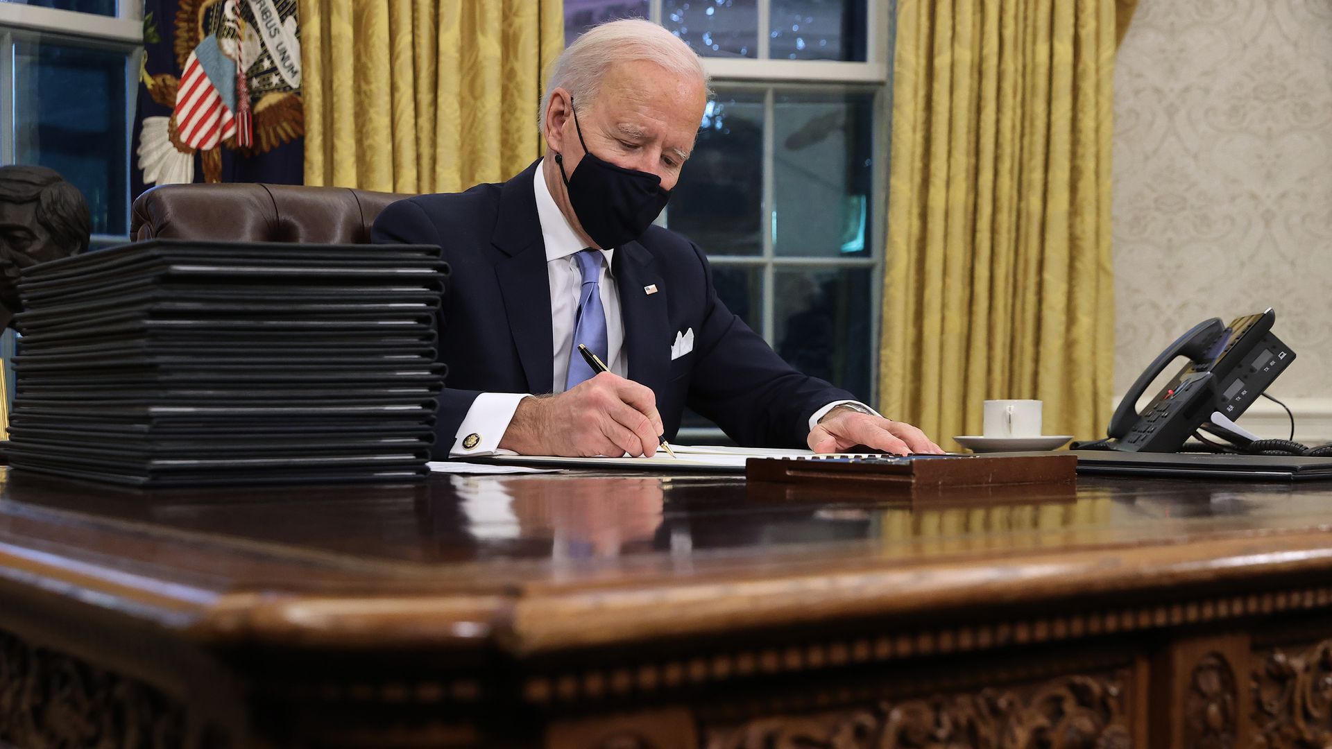
<instances>
[{"instance_id":1,"label":"brown leather chair back visible above the stack of folders","mask_svg":"<svg viewBox=\"0 0 1332 749\"><path fill-rule=\"evenodd\" d=\"M380 211L404 197L410 196L258 183L160 185L135 200L129 236L368 244Z\"/></svg>"}]
</instances>

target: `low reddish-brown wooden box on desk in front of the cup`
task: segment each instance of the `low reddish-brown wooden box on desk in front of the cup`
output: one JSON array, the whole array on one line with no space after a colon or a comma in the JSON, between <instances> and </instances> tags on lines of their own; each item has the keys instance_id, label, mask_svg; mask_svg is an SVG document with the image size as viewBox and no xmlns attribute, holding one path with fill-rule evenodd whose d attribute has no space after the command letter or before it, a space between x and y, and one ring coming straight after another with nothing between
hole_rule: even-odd
<instances>
[{"instance_id":1,"label":"low reddish-brown wooden box on desk in front of the cup","mask_svg":"<svg viewBox=\"0 0 1332 749\"><path fill-rule=\"evenodd\" d=\"M870 488L919 492L962 486L1051 485L1076 480L1072 453L978 456L880 456L750 460L745 477L777 484L818 484L829 489Z\"/></svg>"}]
</instances>

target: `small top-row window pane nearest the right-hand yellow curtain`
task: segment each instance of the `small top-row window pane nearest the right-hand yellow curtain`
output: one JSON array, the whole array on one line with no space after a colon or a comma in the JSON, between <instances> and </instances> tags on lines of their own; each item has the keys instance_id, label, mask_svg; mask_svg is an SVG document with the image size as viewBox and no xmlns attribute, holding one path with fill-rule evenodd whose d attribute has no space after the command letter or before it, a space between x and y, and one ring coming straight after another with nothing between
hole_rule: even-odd
<instances>
[{"instance_id":1,"label":"small top-row window pane nearest the right-hand yellow curtain","mask_svg":"<svg viewBox=\"0 0 1332 749\"><path fill-rule=\"evenodd\" d=\"M866 0L773 0L774 60L866 60Z\"/></svg>"}]
</instances>

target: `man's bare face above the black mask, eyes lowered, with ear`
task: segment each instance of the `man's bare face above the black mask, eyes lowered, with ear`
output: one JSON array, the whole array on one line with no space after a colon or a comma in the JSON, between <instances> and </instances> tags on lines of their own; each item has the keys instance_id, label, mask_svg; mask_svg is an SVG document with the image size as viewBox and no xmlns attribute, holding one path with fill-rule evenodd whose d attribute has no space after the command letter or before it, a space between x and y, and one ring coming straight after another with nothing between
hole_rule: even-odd
<instances>
[{"instance_id":1,"label":"man's bare face above the black mask, eyes lowered, with ear","mask_svg":"<svg viewBox=\"0 0 1332 749\"><path fill-rule=\"evenodd\" d=\"M673 189L679 171L694 149L694 136L703 119L707 92L703 83L666 72L661 65L634 60L611 67L593 101L574 101L587 151L626 169L657 175L662 188ZM578 168L574 119L558 129L569 171Z\"/></svg>"}]
</instances>

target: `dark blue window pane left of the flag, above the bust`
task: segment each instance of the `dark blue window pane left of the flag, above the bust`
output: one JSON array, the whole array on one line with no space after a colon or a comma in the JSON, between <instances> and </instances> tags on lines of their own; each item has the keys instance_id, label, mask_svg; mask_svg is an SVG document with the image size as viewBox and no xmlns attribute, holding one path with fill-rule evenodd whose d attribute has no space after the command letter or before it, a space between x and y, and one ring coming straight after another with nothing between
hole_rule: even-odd
<instances>
[{"instance_id":1,"label":"dark blue window pane left of the flag, above the bust","mask_svg":"<svg viewBox=\"0 0 1332 749\"><path fill-rule=\"evenodd\" d=\"M88 200L95 235L129 233L124 52L15 43L19 164L49 167Z\"/></svg>"}]
</instances>

